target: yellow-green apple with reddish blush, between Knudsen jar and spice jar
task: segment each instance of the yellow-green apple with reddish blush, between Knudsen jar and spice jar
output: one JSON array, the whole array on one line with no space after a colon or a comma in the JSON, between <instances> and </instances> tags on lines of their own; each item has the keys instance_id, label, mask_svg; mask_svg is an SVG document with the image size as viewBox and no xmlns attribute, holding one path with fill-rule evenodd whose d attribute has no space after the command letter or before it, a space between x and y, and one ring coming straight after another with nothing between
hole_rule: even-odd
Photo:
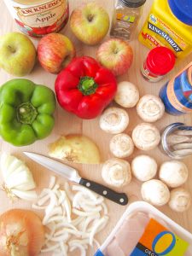
<instances>
[{"instance_id":1,"label":"yellow-green apple with reddish blush, between Knudsen jar and spice jar","mask_svg":"<svg viewBox=\"0 0 192 256\"><path fill-rule=\"evenodd\" d=\"M108 33L108 13L97 3L87 3L73 10L70 26L75 36L84 44L99 44Z\"/></svg>"}]
</instances>

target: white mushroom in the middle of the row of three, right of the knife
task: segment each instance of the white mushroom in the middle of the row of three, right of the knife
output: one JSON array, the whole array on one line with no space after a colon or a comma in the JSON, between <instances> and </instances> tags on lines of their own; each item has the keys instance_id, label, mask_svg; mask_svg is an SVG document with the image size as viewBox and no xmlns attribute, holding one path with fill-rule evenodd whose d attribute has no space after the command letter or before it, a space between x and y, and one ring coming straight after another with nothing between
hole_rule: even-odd
<instances>
[{"instance_id":1,"label":"white mushroom in the middle of the row of three, right of the knife","mask_svg":"<svg viewBox=\"0 0 192 256\"><path fill-rule=\"evenodd\" d=\"M157 163L147 154L141 154L132 160L131 171L138 180L145 182L156 175Z\"/></svg>"}]
</instances>

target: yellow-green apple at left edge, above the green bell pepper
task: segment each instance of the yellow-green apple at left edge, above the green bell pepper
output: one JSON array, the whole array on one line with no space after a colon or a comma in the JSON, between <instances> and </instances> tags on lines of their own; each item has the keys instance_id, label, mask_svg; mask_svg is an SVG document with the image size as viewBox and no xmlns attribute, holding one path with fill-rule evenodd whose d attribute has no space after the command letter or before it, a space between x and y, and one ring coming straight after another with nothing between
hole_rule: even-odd
<instances>
[{"instance_id":1,"label":"yellow-green apple at left edge, above the green bell pepper","mask_svg":"<svg viewBox=\"0 0 192 256\"><path fill-rule=\"evenodd\" d=\"M23 77L32 71L36 49L32 41L20 32L9 32L0 37L0 67L7 73Z\"/></svg>"}]
</instances>

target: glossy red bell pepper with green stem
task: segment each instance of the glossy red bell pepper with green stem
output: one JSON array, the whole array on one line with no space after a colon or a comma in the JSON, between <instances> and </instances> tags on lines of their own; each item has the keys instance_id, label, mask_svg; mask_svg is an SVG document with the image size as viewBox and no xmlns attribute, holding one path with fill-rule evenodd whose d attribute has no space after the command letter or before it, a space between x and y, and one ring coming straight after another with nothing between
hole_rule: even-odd
<instances>
[{"instance_id":1,"label":"glossy red bell pepper with green stem","mask_svg":"<svg viewBox=\"0 0 192 256\"><path fill-rule=\"evenodd\" d=\"M61 108L82 119L94 119L102 113L116 90L113 73L88 56L74 58L55 80L55 94Z\"/></svg>"}]
</instances>

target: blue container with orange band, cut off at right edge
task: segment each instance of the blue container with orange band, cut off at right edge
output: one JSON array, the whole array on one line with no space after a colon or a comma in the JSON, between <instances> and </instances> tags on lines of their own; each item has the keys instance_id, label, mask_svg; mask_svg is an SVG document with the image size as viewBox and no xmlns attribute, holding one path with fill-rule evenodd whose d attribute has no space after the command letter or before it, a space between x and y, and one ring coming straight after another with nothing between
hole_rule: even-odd
<instances>
[{"instance_id":1,"label":"blue container with orange band, cut off at right edge","mask_svg":"<svg viewBox=\"0 0 192 256\"><path fill-rule=\"evenodd\" d=\"M161 88L160 98L167 113L192 113L192 61Z\"/></svg>"}]
</instances>

